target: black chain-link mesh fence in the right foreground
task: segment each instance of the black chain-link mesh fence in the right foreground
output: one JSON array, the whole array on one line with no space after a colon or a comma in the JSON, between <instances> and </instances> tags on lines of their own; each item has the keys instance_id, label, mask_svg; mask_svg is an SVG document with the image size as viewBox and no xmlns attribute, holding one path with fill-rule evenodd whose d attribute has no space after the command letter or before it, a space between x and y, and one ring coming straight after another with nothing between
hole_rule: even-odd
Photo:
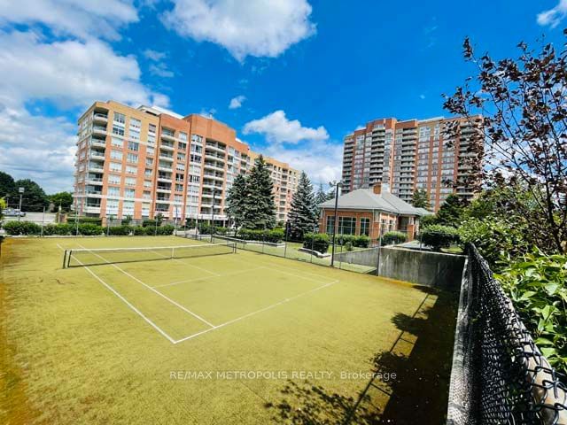
<instances>
[{"instance_id":1,"label":"black chain-link mesh fence in the right foreground","mask_svg":"<svg viewBox=\"0 0 567 425\"><path fill-rule=\"evenodd\" d=\"M447 423L567 424L567 388L474 245L455 335ZM563 381L563 382L562 382Z\"/></svg>"}]
</instances>

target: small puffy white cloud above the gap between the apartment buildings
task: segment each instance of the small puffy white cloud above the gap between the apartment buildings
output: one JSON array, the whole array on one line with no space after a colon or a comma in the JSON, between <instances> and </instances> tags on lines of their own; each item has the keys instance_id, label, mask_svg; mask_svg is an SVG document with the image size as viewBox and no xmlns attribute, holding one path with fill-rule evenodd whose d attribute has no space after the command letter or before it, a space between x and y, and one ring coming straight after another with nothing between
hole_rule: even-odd
<instances>
[{"instance_id":1,"label":"small puffy white cloud above the gap between the apartment buildings","mask_svg":"<svg viewBox=\"0 0 567 425\"><path fill-rule=\"evenodd\" d=\"M329 138L329 133L324 127L303 127L299 120L288 120L283 111L272 112L259 120L247 122L243 133L245 135L260 133L265 135L270 143L324 141Z\"/></svg>"}]
</instances>

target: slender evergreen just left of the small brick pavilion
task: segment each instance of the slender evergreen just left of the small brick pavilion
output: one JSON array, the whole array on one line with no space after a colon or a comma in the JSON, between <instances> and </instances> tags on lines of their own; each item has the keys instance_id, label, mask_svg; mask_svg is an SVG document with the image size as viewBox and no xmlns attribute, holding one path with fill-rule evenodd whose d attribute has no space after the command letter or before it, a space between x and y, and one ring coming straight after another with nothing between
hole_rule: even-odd
<instances>
[{"instance_id":1,"label":"slender evergreen just left of the small brick pavilion","mask_svg":"<svg viewBox=\"0 0 567 425\"><path fill-rule=\"evenodd\" d=\"M317 205L313 186L304 172L301 172L298 189L291 198L289 221L291 238L296 240L302 240L305 233L313 232L317 224Z\"/></svg>"}]
</instances>

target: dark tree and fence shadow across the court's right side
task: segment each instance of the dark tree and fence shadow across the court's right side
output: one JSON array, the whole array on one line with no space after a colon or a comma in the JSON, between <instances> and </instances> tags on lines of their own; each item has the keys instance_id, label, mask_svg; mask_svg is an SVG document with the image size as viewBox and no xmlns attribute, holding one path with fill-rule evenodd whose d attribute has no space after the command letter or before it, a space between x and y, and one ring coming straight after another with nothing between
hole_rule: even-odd
<instances>
[{"instance_id":1,"label":"dark tree and fence shadow across the court's right side","mask_svg":"<svg viewBox=\"0 0 567 425\"><path fill-rule=\"evenodd\" d=\"M392 318L400 329L398 340L370 359L373 372L395 373L396 379L376 377L354 398L317 383L289 381L281 400L265 405L273 420L306 425L445 423L458 294L422 290L428 295L413 316L398 313Z\"/></svg>"}]
</instances>

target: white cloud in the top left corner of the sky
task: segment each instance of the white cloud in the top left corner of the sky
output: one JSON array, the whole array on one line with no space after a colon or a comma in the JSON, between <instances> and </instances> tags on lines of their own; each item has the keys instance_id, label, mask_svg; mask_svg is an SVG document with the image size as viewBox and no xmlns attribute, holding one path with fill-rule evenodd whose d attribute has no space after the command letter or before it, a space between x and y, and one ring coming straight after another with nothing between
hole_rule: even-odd
<instances>
[{"instance_id":1,"label":"white cloud in the top left corner of the sky","mask_svg":"<svg viewBox=\"0 0 567 425\"><path fill-rule=\"evenodd\" d=\"M42 23L56 34L87 39L93 36L117 39L118 29L138 20L130 0L4 0L0 2L0 24Z\"/></svg>"}]
</instances>

